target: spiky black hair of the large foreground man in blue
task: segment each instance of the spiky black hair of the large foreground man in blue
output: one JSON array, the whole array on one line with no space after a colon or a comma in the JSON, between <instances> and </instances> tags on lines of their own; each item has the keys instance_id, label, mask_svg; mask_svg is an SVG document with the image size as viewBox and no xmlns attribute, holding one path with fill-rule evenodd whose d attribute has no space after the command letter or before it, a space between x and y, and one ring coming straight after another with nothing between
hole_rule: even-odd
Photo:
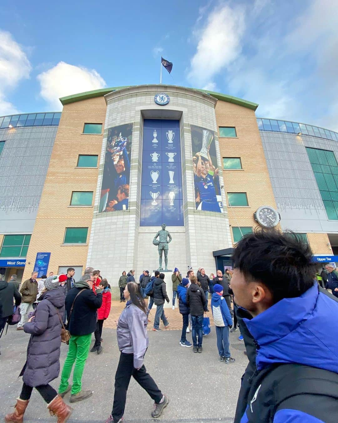
<instances>
[{"instance_id":1,"label":"spiky black hair of the large foreground man in blue","mask_svg":"<svg viewBox=\"0 0 338 423\"><path fill-rule=\"evenodd\" d=\"M304 294L311 286L317 263L308 244L297 233L258 229L237 243L232 261L250 281L259 281L270 290L273 303Z\"/></svg>"}]
</instances>

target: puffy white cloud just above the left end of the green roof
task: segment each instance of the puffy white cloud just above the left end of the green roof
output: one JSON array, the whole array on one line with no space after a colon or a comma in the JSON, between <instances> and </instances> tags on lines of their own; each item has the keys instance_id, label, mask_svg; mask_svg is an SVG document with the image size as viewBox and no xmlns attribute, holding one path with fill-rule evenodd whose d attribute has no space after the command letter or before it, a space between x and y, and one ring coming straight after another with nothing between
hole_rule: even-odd
<instances>
[{"instance_id":1,"label":"puffy white cloud just above the left end of the green roof","mask_svg":"<svg viewBox=\"0 0 338 423\"><path fill-rule=\"evenodd\" d=\"M106 81L95 69L59 62L37 76L40 94L54 110L61 109L59 98L106 87Z\"/></svg>"}]
</instances>

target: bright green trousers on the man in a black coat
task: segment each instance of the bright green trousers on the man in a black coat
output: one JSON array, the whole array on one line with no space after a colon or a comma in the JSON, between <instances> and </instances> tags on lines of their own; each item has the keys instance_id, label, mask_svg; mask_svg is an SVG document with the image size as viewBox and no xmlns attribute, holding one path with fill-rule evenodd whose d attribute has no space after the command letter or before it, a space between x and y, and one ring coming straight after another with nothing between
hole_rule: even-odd
<instances>
[{"instance_id":1,"label":"bright green trousers on the man in a black coat","mask_svg":"<svg viewBox=\"0 0 338 423\"><path fill-rule=\"evenodd\" d=\"M81 379L88 357L91 340L91 333L89 333L88 335L71 336L71 339L69 340L67 358L62 369L59 393L65 392L65 390L67 390L68 388L68 379L71 376L71 370L73 368L74 362L75 367L73 373L73 385L71 387L71 394L77 394L81 391Z\"/></svg>"}]
</instances>

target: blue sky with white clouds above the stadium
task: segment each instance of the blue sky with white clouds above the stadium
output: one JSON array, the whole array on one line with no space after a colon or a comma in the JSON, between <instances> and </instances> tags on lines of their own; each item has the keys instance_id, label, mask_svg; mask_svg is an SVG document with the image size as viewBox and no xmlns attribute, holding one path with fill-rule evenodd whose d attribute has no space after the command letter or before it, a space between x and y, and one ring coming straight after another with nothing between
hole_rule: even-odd
<instances>
[{"instance_id":1,"label":"blue sky with white clouds above the stadium","mask_svg":"<svg viewBox=\"0 0 338 423\"><path fill-rule=\"evenodd\" d=\"M0 115L60 96L163 82L256 103L257 116L338 130L334 0L3 0Z\"/></svg>"}]
</instances>

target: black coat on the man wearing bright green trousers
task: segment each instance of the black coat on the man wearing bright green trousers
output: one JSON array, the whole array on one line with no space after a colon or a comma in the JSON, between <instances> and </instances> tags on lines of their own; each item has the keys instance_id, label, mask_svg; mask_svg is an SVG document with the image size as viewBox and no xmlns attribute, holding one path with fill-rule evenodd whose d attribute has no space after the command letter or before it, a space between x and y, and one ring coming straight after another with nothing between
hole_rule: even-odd
<instances>
[{"instance_id":1,"label":"black coat on the man wearing bright green trousers","mask_svg":"<svg viewBox=\"0 0 338 423\"><path fill-rule=\"evenodd\" d=\"M102 294L94 294L93 290L89 288L86 283L76 283L75 287L68 291L66 297L66 310L68 319L68 330L71 335L88 335L89 333L95 332L96 329L96 316L97 309L102 305ZM71 311L71 305L76 295L81 292L79 297L74 302L74 308L71 313L71 319L69 321L69 314Z\"/></svg>"}]
</instances>

